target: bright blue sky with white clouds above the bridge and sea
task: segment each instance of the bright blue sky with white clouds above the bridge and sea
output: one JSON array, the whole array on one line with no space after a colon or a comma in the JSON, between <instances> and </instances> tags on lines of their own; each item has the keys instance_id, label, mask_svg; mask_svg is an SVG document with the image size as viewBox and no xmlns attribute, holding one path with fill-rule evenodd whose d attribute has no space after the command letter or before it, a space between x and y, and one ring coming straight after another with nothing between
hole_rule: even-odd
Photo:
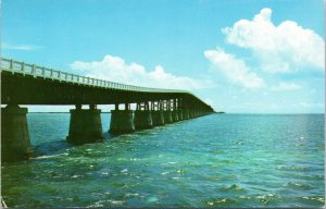
<instances>
[{"instance_id":1,"label":"bright blue sky with white clouds above the bridge and sea","mask_svg":"<svg viewBox=\"0 0 326 209\"><path fill-rule=\"evenodd\" d=\"M229 113L324 113L324 33L323 0L1 2L4 58L185 89Z\"/></svg>"}]
</instances>

